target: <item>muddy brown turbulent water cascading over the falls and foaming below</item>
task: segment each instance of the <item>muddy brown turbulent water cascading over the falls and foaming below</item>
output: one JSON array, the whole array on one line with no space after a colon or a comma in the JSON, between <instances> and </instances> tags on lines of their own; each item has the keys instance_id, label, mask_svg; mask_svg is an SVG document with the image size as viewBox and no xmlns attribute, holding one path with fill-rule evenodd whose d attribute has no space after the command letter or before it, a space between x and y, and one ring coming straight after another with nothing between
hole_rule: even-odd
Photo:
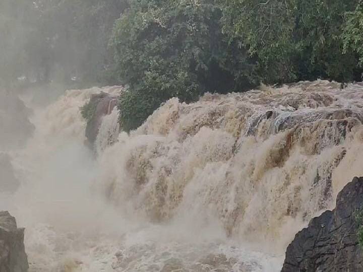
<instances>
[{"instance_id":1,"label":"muddy brown turbulent water cascading over the falls and foaming below","mask_svg":"<svg viewBox=\"0 0 363 272\"><path fill-rule=\"evenodd\" d=\"M278 271L295 233L362 175L363 86L339 87L171 99L130 134L113 110L94 151L80 107L122 88L34 107L33 136L9 152L21 185L0 200L26 228L30 271Z\"/></svg>"}]
</instances>

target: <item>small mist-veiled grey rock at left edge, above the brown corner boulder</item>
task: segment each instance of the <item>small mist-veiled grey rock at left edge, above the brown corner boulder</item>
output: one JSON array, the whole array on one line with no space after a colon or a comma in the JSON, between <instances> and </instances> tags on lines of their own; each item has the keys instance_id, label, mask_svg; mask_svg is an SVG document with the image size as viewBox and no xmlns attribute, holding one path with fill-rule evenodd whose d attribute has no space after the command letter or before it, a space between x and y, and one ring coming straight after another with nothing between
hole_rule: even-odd
<instances>
[{"instance_id":1,"label":"small mist-veiled grey rock at left edge, above the brown corner boulder","mask_svg":"<svg viewBox=\"0 0 363 272\"><path fill-rule=\"evenodd\" d=\"M15 192L20 182L14 175L11 158L8 154L0 153L0 191Z\"/></svg>"}]
</instances>

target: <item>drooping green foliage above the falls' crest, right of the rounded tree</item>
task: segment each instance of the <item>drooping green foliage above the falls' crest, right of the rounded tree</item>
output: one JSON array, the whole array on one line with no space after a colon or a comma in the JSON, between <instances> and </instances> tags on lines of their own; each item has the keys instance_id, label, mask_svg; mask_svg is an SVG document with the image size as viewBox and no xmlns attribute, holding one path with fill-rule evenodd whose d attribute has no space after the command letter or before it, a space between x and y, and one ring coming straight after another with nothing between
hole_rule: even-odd
<instances>
[{"instance_id":1,"label":"drooping green foliage above the falls' crest, right of the rounded tree","mask_svg":"<svg viewBox=\"0 0 363 272\"><path fill-rule=\"evenodd\" d=\"M351 81L356 58L349 50L343 52L340 35L344 14L356 4L351 0L223 1L223 30L258 58L264 82Z\"/></svg>"}]
</instances>

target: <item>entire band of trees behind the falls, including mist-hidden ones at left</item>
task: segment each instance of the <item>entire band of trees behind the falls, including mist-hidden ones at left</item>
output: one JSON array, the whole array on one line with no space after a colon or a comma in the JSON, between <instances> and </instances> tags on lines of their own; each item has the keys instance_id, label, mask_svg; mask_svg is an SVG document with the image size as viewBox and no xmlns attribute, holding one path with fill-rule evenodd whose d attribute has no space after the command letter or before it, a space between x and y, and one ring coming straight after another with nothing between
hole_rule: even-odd
<instances>
[{"instance_id":1,"label":"entire band of trees behind the falls, including mist-hidden ones at left","mask_svg":"<svg viewBox=\"0 0 363 272\"><path fill-rule=\"evenodd\" d=\"M128 85L126 130L173 96L363 72L361 0L3 0L0 22L0 84Z\"/></svg>"}]
</instances>

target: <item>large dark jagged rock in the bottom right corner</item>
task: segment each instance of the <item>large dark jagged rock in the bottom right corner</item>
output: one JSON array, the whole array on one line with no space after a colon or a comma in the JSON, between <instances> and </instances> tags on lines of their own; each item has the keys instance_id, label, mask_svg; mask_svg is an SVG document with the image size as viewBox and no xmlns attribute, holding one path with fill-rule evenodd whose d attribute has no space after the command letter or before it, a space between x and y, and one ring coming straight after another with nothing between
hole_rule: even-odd
<instances>
[{"instance_id":1,"label":"large dark jagged rock in the bottom right corner","mask_svg":"<svg viewBox=\"0 0 363 272\"><path fill-rule=\"evenodd\" d=\"M286 249L282 272L363 271L354 213L363 207L363 177L338 194L336 208L313 218Z\"/></svg>"}]
</instances>

